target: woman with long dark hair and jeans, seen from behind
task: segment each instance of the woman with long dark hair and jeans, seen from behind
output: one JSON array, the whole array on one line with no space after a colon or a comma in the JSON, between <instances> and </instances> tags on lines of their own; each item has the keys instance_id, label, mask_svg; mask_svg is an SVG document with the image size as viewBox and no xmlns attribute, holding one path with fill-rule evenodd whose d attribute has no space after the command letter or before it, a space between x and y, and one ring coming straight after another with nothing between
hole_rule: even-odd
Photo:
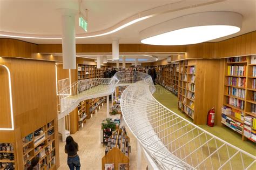
<instances>
[{"instance_id":1,"label":"woman with long dark hair and jeans, seen from behind","mask_svg":"<svg viewBox=\"0 0 256 170\"><path fill-rule=\"evenodd\" d=\"M74 141L74 139L69 136L66 138L66 145L65 145L65 153L68 154L68 165L70 170L79 170L80 169L80 158L77 154L78 151L78 144Z\"/></svg>"}]
</instances>

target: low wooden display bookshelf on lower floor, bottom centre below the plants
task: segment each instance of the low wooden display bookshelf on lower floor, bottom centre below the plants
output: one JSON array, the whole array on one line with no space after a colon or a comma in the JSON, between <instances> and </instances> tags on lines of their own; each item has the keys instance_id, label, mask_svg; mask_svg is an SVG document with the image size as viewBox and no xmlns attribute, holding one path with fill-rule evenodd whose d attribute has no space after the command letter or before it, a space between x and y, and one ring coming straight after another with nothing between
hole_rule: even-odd
<instances>
[{"instance_id":1,"label":"low wooden display bookshelf on lower floor, bottom centre below the plants","mask_svg":"<svg viewBox=\"0 0 256 170\"><path fill-rule=\"evenodd\" d=\"M114 164L114 169L118 169L120 164L126 164L129 169L130 152L130 138L126 133L125 127L122 126L114 131L107 140L105 155L102 158L102 169L104 170L107 164Z\"/></svg>"}]
</instances>

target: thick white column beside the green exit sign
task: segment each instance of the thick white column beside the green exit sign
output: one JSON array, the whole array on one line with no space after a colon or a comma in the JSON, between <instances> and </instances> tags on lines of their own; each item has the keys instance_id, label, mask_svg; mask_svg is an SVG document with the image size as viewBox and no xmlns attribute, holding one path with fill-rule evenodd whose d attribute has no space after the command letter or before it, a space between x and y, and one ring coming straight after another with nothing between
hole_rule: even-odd
<instances>
[{"instance_id":1,"label":"thick white column beside the green exit sign","mask_svg":"<svg viewBox=\"0 0 256 170\"><path fill-rule=\"evenodd\" d=\"M62 12L62 52L63 69L76 69L76 30L73 9L64 9Z\"/></svg>"}]
</instances>

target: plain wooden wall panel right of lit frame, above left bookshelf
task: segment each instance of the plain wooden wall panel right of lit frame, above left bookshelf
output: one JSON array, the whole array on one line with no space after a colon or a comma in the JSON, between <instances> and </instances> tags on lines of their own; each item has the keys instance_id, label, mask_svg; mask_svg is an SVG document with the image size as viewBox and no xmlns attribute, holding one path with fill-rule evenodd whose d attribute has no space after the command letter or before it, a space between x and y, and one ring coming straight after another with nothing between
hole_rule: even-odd
<instances>
[{"instance_id":1,"label":"plain wooden wall panel right of lit frame, above left bookshelf","mask_svg":"<svg viewBox=\"0 0 256 170\"><path fill-rule=\"evenodd\" d=\"M15 127L22 137L57 117L55 63L4 58L10 68Z\"/></svg>"}]
</instances>

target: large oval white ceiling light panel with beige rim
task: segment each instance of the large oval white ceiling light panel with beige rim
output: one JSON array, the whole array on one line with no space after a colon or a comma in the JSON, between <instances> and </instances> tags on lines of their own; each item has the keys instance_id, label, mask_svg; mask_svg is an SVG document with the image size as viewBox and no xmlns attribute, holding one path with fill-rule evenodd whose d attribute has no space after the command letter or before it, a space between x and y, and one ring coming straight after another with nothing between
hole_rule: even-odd
<instances>
[{"instance_id":1,"label":"large oval white ceiling light panel with beige rim","mask_svg":"<svg viewBox=\"0 0 256 170\"><path fill-rule=\"evenodd\" d=\"M187 45L225 37L241 30L242 15L235 12L193 13L151 26L140 32L151 45Z\"/></svg>"}]
</instances>

